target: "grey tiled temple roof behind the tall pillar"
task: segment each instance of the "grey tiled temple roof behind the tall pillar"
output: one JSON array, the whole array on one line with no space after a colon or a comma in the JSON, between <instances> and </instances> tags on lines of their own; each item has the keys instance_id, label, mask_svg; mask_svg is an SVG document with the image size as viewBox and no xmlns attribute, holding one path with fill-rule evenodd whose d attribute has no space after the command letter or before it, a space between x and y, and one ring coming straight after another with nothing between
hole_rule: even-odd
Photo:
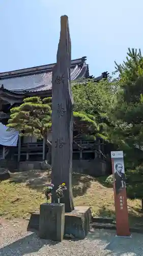
<instances>
[{"instance_id":1,"label":"grey tiled temple roof behind the tall pillar","mask_svg":"<svg viewBox=\"0 0 143 256\"><path fill-rule=\"evenodd\" d=\"M74 65L71 65L71 80L85 78L88 74L88 65L85 62L81 63L81 59L79 59L80 63L72 61ZM46 70L42 67L44 66L28 69L28 72L25 69L21 70L21 73L20 71L0 73L0 85L3 84L6 90L16 94L51 90L52 69L49 65L46 66Z\"/></svg>"}]
</instances>

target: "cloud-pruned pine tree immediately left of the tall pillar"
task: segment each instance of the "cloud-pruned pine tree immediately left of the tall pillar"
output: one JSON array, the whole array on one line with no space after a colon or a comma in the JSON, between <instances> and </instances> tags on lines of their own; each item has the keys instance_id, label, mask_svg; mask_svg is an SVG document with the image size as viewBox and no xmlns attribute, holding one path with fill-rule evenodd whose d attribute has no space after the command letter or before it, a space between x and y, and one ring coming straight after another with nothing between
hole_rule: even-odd
<instances>
[{"instance_id":1,"label":"cloud-pruned pine tree immediately left of the tall pillar","mask_svg":"<svg viewBox=\"0 0 143 256\"><path fill-rule=\"evenodd\" d=\"M21 136L34 136L37 139L45 139L49 151L47 161L51 162L51 142L48 133L51 131L51 97L25 98L23 103L11 109L8 122L9 129L14 128Z\"/></svg>"}]
</instances>

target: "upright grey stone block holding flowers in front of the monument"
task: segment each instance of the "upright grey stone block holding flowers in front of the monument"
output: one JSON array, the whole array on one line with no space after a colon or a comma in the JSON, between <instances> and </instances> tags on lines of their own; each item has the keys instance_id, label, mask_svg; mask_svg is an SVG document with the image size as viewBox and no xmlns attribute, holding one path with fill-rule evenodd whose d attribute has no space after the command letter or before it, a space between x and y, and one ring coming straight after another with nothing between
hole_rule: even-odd
<instances>
[{"instance_id":1,"label":"upright grey stone block holding flowers in front of the monument","mask_svg":"<svg viewBox=\"0 0 143 256\"><path fill-rule=\"evenodd\" d=\"M61 242L64 236L65 204L41 204L39 237Z\"/></svg>"}]
</instances>

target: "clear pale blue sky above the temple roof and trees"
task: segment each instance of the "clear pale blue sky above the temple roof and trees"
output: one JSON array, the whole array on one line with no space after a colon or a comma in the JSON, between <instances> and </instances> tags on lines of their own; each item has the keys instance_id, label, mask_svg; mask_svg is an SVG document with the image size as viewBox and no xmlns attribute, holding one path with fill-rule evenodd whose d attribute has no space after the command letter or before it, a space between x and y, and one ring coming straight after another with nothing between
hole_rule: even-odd
<instances>
[{"instance_id":1,"label":"clear pale blue sky above the temple roof and trees","mask_svg":"<svg viewBox=\"0 0 143 256\"><path fill-rule=\"evenodd\" d=\"M55 62L64 14L72 58L87 56L91 75L112 72L128 47L143 53L142 0L1 0L0 10L0 72Z\"/></svg>"}]
</instances>

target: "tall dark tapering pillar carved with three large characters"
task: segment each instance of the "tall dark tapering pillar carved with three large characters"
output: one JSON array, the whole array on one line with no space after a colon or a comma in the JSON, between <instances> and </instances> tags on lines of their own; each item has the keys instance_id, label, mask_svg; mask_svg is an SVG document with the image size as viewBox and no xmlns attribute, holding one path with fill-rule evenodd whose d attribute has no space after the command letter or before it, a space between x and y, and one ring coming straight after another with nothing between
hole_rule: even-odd
<instances>
[{"instance_id":1,"label":"tall dark tapering pillar carved with three large characters","mask_svg":"<svg viewBox=\"0 0 143 256\"><path fill-rule=\"evenodd\" d=\"M61 200L65 211L74 209L72 195L73 97L71 92L71 40L68 17L61 17L61 33L52 70L52 183L55 188L65 182L67 190ZM52 202L57 202L55 196Z\"/></svg>"}]
</instances>

